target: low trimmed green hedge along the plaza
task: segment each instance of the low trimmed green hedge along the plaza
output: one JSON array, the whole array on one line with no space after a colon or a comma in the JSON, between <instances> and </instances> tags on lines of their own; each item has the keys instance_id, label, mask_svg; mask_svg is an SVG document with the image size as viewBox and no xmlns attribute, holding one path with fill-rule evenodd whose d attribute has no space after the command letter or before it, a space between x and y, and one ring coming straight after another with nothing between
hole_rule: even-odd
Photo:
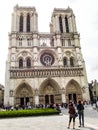
<instances>
[{"instance_id":1,"label":"low trimmed green hedge along the plaza","mask_svg":"<svg viewBox=\"0 0 98 130\"><path fill-rule=\"evenodd\" d=\"M27 117L27 116L45 116L57 115L59 112L55 109L30 109L30 110L13 110L13 111L0 111L0 118L12 117Z\"/></svg>"}]
</instances>

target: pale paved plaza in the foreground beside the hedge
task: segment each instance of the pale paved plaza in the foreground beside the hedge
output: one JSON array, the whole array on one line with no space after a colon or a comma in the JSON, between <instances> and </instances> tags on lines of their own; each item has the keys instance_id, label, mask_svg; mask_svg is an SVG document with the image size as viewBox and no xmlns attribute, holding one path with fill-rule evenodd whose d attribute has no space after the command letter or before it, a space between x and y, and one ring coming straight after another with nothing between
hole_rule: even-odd
<instances>
[{"instance_id":1,"label":"pale paved plaza in the foreground beside the hedge","mask_svg":"<svg viewBox=\"0 0 98 130\"><path fill-rule=\"evenodd\" d=\"M0 119L0 130L67 130L68 111L62 109L62 112L62 115L57 116ZM86 107L85 127L79 128L78 125L76 118L76 130L98 130L98 112L90 106Z\"/></svg>"}]
</instances>

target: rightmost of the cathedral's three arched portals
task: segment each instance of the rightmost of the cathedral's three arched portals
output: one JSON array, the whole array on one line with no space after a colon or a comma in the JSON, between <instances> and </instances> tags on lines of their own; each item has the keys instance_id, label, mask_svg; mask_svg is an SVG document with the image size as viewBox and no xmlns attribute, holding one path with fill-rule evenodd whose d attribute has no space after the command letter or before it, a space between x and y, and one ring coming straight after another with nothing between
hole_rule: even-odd
<instances>
[{"instance_id":1,"label":"rightmost of the cathedral's three arched portals","mask_svg":"<svg viewBox=\"0 0 98 130\"><path fill-rule=\"evenodd\" d=\"M68 103L70 100L74 103L82 100L81 87L75 80L71 80L66 86L66 102Z\"/></svg>"}]
</instances>

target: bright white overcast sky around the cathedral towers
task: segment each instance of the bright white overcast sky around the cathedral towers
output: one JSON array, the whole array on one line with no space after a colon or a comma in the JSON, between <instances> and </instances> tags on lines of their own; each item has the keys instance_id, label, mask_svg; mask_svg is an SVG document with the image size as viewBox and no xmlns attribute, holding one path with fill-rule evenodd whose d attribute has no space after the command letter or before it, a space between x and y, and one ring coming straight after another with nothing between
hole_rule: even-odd
<instances>
[{"instance_id":1,"label":"bright white overcast sky around the cathedral towers","mask_svg":"<svg viewBox=\"0 0 98 130\"><path fill-rule=\"evenodd\" d=\"M3 0L0 3L0 84L5 86L11 18L14 6L33 6L38 13L38 31L49 32L54 8L72 8L86 65L87 79L98 80L98 0Z\"/></svg>"}]
</instances>

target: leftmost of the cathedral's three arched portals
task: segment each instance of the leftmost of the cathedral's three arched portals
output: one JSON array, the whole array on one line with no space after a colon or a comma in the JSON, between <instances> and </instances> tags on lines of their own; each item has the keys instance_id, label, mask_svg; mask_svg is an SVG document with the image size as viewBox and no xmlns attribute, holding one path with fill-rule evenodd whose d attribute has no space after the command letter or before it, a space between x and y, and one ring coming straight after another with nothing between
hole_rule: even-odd
<instances>
[{"instance_id":1,"label":"leftmost of the cathedral's three arched portals","mask_svg":"<svg viewBox=\"0 0 98 130\"><path fill-rule=\"evenodd\" d=\"M15 105L26 107L33 105L33 91L27 83L20 84L15 92Z\"/></svg>"}]
</instances>

